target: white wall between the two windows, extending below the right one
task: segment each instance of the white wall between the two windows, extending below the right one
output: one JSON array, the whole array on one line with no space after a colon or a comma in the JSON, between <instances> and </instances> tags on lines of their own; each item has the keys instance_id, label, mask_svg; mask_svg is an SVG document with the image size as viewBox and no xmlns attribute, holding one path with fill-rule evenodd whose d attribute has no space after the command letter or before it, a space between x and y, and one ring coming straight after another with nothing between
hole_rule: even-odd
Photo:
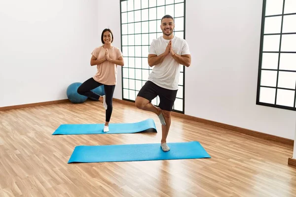
<instances>
[{"instance_id":1,"label":"white wall between the two windows, extending below the right one","mask_svg":"<svg viewBox=\"0 0 296 197\"><path fill-rule=\"evenodd\" d=\"M262 0L187 0L185 114L294 139L295 112L256 105Z\"/></svg>"}]
</instances>

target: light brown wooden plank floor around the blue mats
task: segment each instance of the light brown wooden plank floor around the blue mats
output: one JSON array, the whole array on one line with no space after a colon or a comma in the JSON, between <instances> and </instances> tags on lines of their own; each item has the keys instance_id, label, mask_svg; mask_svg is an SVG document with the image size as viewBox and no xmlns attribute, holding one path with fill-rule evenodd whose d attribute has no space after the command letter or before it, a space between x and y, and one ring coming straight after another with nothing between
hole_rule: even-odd
<instances>
[{"instance_id":1,"label":"light brown wooden plank floor around the blue mats","mask_svg":"<svg viewBox=\"0 0 296 197\"><path fill-rule=\"evenodd\" d=\"M147 118L158 133L51 135L60 124L103 123L102 104L1 111L0 197L296 196L296 168L287 164L292 146L175 117L168 142L199 141L211 159L67 164L77 145L160 142L156 116L114 102L112 123Z\"/></svg>"}]
</instances>

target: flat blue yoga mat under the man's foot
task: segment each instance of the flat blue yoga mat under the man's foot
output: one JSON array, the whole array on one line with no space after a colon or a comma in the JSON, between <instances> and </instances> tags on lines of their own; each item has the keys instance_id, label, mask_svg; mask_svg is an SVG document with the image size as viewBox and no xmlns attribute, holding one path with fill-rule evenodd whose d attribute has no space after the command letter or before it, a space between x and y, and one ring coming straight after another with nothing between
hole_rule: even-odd
<instances>
[{"instance_id":1,"label":"flat blue yoga mat under the man's foot","mask_svg":"<svg viewBox=\"0 0 296 197\"><path fill-rule=\"evenodd\" d=\"M168 152L162 151L160 143L76 146L68 164L211 158L197 141L168 143L168 146L171 149Z\"/></svg>"}]
</instances>

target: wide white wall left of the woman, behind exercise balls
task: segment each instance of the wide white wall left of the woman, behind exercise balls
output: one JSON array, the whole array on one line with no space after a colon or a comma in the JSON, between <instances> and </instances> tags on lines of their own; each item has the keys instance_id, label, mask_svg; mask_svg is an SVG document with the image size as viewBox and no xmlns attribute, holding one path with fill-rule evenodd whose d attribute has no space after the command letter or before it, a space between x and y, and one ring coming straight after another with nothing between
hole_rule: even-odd
<instances>
[{"instance_id":1,"label":"wide white wall left of the woman, behind exercise balls","mask_svg":"<svg viewBox=\"0 0 296 197\"><path fill-rule=\"evenodd\" d=\"M0 24L0 107L67 99L96 72L97 0L1 0Z\"/></svg>"}]
</instances>

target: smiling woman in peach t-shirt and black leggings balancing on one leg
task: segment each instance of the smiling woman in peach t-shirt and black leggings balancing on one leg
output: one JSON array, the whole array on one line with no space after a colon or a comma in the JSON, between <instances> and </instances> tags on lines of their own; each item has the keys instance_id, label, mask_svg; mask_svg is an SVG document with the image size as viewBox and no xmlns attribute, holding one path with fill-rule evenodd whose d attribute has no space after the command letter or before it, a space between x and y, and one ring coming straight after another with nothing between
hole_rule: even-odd
<instances>
[{"instance_id":1,"label":"smiling woman in peach t-shirt and black leggings balancing on one leg","mask_svg":"<svg viewBox=\"0 0 296 197\"><path fill-rule=\"evenodd\" d=\"M113 33L110 29L103 30L101 41L103 45L94 49L91 53L92 57L90 60L90 65L97 65L98 71L95 76L86 80L79 86L77 93L92 99L103 101L103 105L106 109L104 132L108 132L112 114L113 93L117 83L117 65L123 66L124 62L120 49L111 44L113 42ZM101 85L104 85L104 96L100 96L91 91Z\"/></svg>"}]
</instances>

